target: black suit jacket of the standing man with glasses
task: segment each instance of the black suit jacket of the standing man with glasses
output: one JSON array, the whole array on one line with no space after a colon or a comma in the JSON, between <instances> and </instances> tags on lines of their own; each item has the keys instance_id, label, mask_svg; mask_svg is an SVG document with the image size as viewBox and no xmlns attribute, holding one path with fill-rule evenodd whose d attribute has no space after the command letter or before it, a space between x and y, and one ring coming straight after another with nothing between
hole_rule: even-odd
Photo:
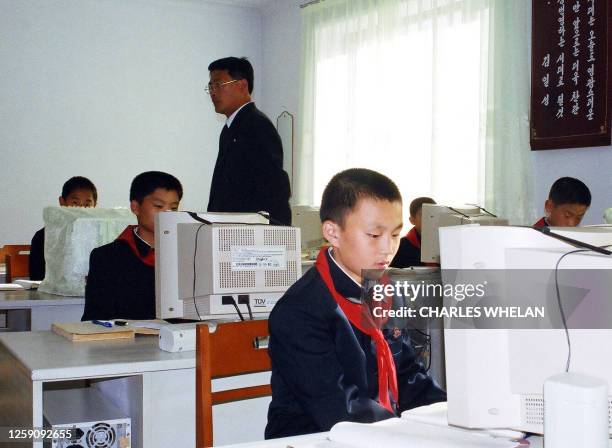
<instances>
[{"instance_id":1,"label":"black suit jacket of the standing man with glasses","mask_svg":"<svg viewBox=\"0 0 612 448\"><path fill-rule=\"evenodd\" d=\"M221 131L208 211L264 210L290 225L290 196L280 136L268 117L249 103Z\"/></svg>"}]
</instances>

